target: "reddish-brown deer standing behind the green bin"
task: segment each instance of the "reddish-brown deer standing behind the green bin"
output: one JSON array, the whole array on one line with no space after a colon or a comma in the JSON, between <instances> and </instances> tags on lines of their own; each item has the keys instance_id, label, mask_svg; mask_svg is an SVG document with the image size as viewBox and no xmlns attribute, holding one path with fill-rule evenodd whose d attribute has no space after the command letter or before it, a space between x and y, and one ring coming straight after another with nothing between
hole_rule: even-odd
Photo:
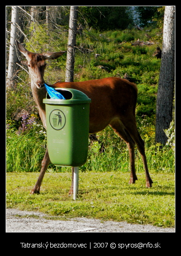
<instances>
[{"instance_id":1,"label":"reddish-brown deer standing behind the green bin","mask_svg":"<svg viewBox=\"0 0 181 256\"><path fill-rule=\"evenodd\" d=\"M35 103L38 106L39 116L43 126L46 129L45 104L43 99L46 97L46 88L44 80L45 60L54 60L65 53L48 52L33 53L28 51L22 44L16 40L19 51L25 56L30 73L31 91ZM135 184L137 180L135 169L135 144L141 154L145 170L146 187L152 186L152 180L149 174L146 160L144 141L141 138L136 126L136 100L137 86L135 83L118 77L108 77L98 80L87 80L78 82L56 82L48 85L52 88L73 88L82 91L90 99L89 113L89 133L95 134L105 129L108 125L113 131L125 141L128 147L130 160L130 179L129 184ZM41 170L38 180L32 188L30 194L39 193L42 180L50 163L48 148L46 148L44 158L41 163ZM73 194L73 171L72 181L68 192Z\"/></svg>"}]
</instances>

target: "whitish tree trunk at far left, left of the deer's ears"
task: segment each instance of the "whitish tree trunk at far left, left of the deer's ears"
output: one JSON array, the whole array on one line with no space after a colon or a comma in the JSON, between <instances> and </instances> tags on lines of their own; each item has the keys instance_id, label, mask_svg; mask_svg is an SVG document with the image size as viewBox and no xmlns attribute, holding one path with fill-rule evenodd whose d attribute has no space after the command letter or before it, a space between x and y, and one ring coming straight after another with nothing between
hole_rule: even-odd
<instances>
[{"instance_id":1,"label":"whitish tree trunk at far left, left of the deer's ears","mask_svg":"<svg viewBox=\"0 0 181 256\"><path fill-rule=\"evenodd\" d=\"M8 75L7 75L7 88L13 86L13 77L16 68L16 49L15 49L15 39L17 36L17 26L19 21L19 8L17 6L12 6L11 12L11 30L10 30L10 45L9 45L9 60L8 60Z\"/></svg>"}]
</instances>

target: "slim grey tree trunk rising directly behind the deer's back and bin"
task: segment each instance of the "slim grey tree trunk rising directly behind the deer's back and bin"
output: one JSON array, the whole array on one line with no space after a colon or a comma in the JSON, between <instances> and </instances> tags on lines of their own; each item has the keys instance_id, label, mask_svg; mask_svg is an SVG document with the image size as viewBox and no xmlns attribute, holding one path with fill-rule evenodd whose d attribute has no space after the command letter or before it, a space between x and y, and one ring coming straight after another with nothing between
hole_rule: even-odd
<instances>
[{"instance_id":1,"label":"slim grey tree trunk rising directly behind the deer's back and bin","mask_svg":"<svg viewBox=\"0 0 181 256\"><path fill-rule=\"evenodd\" d=\"M77 26L77 10L78 6L70 7L69 30L68 30L68 46L67 46L67 63L65 72L65 81L74 81L74 63L75 63L75 41Z\"/></svg>"}]
</instances>

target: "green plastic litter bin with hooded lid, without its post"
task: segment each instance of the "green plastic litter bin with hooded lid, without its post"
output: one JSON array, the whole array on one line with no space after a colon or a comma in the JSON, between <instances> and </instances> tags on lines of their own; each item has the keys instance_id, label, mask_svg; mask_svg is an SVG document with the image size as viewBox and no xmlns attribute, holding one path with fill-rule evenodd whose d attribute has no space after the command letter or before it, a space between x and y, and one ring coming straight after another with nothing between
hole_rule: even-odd
<instances>
[{"instance_id":1,"label":"green plastic litter bin with hooded lid, without its post","mask_svg":"<svg viewBox=\"0 0 181 256\"><path fill-rule=\"evenodd\" d=\"M57 166L81 166L87 160L89 144L89 106L83 92L56 88L65 97L43 99L46 110L46 134L51 162Z\"/></svg>"}]
</instances>

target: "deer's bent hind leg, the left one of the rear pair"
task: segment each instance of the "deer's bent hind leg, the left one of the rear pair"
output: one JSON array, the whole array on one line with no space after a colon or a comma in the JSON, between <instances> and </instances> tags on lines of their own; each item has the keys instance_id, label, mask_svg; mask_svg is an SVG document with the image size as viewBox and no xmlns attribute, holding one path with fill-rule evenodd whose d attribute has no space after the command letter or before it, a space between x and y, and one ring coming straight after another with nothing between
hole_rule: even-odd
<instances>
[{"instance_id":1,"label":"deer's bent hind leg, the left one of the rear pair","mask_svg":"<svg viewBox=\"0 0 181 256\"><path fill-rule=\"evenodd\" d=\"M135 170L135 142L129 135L127 129L125 128L120 119L112 120L109 125L111 126L111 128L113 128L114 132L117 133L117 135L126 142L128 146L131 169L129 184L134 184L137 180Z\"/></svg>"}]
</instances>

